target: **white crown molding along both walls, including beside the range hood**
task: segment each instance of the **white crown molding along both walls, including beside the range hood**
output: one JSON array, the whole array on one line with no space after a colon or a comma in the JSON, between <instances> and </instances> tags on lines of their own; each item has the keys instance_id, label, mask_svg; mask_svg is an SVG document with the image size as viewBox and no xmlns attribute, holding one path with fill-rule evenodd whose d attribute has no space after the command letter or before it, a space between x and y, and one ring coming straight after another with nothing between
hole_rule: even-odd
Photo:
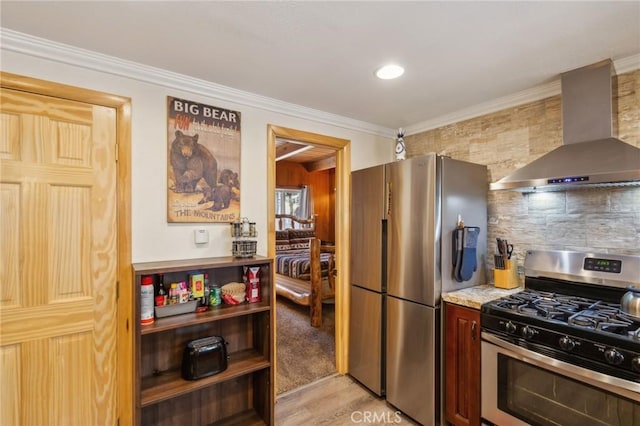
<instances>
[{"instance_id":1,"label":"white crown molding along both walls, including beside the range hood","mask_svg":"<svg viewBox=\"0 0 640 426\"><path fill-rule=\"evenodd\" d=\"M386 138L395 138L396 129L390 129L364 121L353 120L328 112L303 107L266 96L223 86L206 80L189 77L127 61L113 56L103 55L90 50L80 49L51 40L35 37L0 27L0 45L3 50L13 51L37 58L73 65L79 68L112 74L162 87L207 96L227 102L259 108L291 117L315 121L344 129L354 130ZM640 54L614 61L617 74L640 69ZM433 130L438 127L479 117L506 108L512 108L529 102L560 94L560 79L545 83L512 95L484 102L425 120L405 127L405 135Z\"/></svg>"}]
</instances>

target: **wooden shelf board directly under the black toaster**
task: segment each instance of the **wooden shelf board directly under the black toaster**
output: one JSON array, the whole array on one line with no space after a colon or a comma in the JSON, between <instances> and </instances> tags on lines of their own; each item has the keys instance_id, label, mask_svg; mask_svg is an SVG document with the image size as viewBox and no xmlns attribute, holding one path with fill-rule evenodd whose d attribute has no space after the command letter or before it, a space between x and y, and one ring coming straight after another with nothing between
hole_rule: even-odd
<instances>
[{"instance_id":1,"label":"wooden shelf board directly under the black toaster","mask_svg":"<svg viewBox=\"0 0 640 426\"><path fill-rule=\"evenodd\" d=\"M268 359L253 350L246 350L229 355L227 369L216 375L200 380L184 380L180 371L173 370L160 376L142 379L141 406L157 404L198 389L212 386L244 374L262 370L271 366Z\"/></svg>"}]
</instances>

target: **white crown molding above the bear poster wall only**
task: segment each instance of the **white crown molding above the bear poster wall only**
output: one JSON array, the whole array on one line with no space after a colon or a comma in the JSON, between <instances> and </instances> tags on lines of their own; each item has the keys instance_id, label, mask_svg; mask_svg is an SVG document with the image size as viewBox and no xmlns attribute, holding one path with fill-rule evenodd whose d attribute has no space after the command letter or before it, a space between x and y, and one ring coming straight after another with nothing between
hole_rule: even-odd
<instances>
[{"instance_id":1,"label":"white crown molding above the bear poster wall only","mask_svg":"<svg viewBox=\"0 0 640 426\"><path fill-rule=\"evenodd\" d=\"M6 28L0 28L0 40L3 50L79 68L156 84L169 89L212 97L227 102L377 136L390 137L394 132L393 129L384 126L353 120L340 115L245 92L221 84L142 65L113 56L103 55Z\"/></svg>"}]
</instances>

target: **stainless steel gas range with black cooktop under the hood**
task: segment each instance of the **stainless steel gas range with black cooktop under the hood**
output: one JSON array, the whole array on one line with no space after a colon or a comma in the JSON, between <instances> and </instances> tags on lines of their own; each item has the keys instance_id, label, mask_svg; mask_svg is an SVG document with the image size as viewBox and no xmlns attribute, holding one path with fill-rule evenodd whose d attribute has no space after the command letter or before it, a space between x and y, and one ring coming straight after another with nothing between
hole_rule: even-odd
<instances>
[{"instance_id":1,"label":"stainless steel gas range with black cooktop under the hood","mask_svg":"<svg viewBox=\"0 0 640 426\"><path fill-rule=\"evenodd\" d=\"M640 426L640 256L530 251L525 289L482 305L482 418Z\"/></svg>"}]
</instances>

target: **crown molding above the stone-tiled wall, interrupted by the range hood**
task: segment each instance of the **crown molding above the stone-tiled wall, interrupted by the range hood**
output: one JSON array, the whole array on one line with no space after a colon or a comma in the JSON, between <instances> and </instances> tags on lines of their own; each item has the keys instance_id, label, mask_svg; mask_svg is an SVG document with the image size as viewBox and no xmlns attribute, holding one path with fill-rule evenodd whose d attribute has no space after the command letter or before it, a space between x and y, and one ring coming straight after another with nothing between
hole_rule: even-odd
<instances>
[{"instance_id":1,"label":"crown molding above the stone-tiled wall, interrupted by the range hood","mask_svg":"<svg viewBox=\"0 0 640 426\"><path fill-rule=\"evenodd\" d=\"M627 72L640 69L640 54L632 55L620 60L613 61L613 67L616 74L624 74ZM529 102L539 101L561 93L560 78L549 83L541 84L531 89L523 90L512 95L504 96L498 99L484 102L478 105L464 108L451 114L442 115L430 120L407 126L405 128L406 135L414 135L416 133L426 132L438 127L449 124L458 123L460 121L469 120L471 118L480 117L492 112L501 111L507 108L513 108Z\"/></svg>"}]
</instances>

